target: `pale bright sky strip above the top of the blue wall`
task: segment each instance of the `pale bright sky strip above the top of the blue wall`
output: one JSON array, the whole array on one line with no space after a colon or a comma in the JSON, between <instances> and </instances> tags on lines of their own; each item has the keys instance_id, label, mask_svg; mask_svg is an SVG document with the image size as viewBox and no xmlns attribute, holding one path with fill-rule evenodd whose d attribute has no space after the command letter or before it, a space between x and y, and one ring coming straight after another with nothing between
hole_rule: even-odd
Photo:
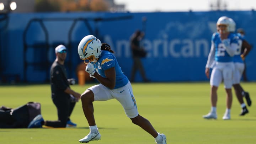
<instances>
[{"instance_id":1,"label":"pale bright sky strip above the top of the blue wall","mask_svg":"<svg viewBox=\"0 0 256 144\"><path fill-rule=\"evenodd\" d=\"M210 4L217 0L114 0L126 4L130 12L153 11L209 11ZM221 0L227 10L256 10L256 0Z\"/></svg>"}]
</instances>

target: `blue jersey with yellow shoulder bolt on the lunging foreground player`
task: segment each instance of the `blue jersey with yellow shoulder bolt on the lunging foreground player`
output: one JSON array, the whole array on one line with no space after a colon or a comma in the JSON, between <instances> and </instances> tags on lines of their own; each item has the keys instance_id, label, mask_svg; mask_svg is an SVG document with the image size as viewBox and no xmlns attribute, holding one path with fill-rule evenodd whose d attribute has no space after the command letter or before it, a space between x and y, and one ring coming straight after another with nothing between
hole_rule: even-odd
<instances>
[{"instance_id":1,"label":"blue jersey with yellow shoulder bolt on the lunging foreground player","mask_svg":"<svg viewBox=\"0 0 256 144\"><path fill-rule=\"evenodd\" d=\"M128 78L123 74L116 57L107 50L102 50L100 58L94 64L94 68L103 78L106 78L105 70L114 67L116 69L116 85L114 89L122 87L128 83Z\"/></svg>"}]
</instances>

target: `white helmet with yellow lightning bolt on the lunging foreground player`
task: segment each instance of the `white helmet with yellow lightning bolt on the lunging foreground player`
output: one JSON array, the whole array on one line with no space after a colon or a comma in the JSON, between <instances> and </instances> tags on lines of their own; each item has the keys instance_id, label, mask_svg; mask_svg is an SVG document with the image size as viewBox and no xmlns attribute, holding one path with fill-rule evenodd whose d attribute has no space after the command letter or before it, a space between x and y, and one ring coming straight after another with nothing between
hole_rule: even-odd
<instances>
[{"instance_id":1,"label":"white helmet with yellow lightning bolt on the lunging foreground player","mask_svg":"<svg viewBox=\"0 0 256 144\"><path fill-rule=\"evenodd\" d=\"M78 54L86 64L97 62L101 54L101 41L93 35L85 36L78 45Z\"/></svg>"}]
</instances>

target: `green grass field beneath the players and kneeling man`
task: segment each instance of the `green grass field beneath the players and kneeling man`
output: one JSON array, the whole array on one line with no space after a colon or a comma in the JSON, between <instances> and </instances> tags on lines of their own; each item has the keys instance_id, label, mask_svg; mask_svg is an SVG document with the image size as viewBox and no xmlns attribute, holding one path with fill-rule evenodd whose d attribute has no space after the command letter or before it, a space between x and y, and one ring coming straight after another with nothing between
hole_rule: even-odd
<instances>
[{"instance_id":1,"label":"green grass field beneath the players and kneeling man","mask_svg":"<svg viewBox=\"0 0 256 144\"><path fill-rule=\"evenodd\" d=\"M74 85L78 92L93 84ZM255 144L256 83L242 83L250 92L249 114L240 117L240 105L233 92L231 120L224 121L225 92L218 90L217 120L205 120L210 110L210 86L198 83L133 83L140 115L164 133L168 144ZM40 102L45 120L56 120L57 111L50 98L50 85L0 86L0 106L16 108L29 101ZM95 119L101 140L90 144L154 144L154 138L135 126L116 100L94 102ZM0 144L77 144L89 133L79 101L71 120L77 128L0 129Z\"/></svg>"}]
</instances>

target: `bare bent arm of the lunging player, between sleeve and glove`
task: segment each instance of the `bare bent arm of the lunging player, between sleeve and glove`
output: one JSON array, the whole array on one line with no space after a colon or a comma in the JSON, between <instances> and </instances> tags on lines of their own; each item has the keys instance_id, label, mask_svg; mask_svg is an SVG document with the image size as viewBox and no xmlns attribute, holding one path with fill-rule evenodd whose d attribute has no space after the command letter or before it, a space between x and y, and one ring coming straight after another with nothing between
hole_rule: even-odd
<instances>
[{"instance_id":1,"label":"bare bent arm of the lunging player, between sleeve and glove","mask_svg":"<svg viewBox=\"0 0 256 144\"><path fill-rule=\"evenodd\" d=\"M104 86L109 89L114 89L116 86L116 69L114 67L105 70L106 78L103 78L98 73L95 73L93 76Z\"/></svg>"}]
</instances>

